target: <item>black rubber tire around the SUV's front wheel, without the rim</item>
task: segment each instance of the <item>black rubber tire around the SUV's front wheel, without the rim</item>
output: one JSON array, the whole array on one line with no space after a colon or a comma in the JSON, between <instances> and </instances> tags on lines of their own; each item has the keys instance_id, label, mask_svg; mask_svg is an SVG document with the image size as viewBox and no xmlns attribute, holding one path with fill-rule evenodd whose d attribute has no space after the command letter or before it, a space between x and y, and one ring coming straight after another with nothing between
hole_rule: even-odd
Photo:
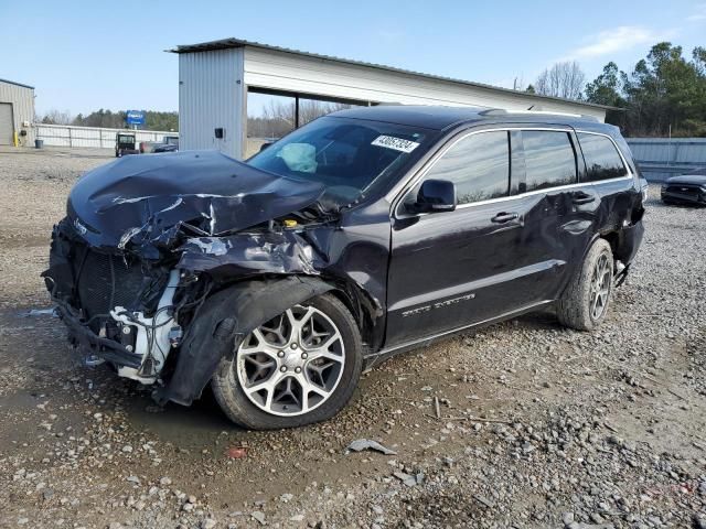
<instances>
[{"instance_id":1,"label":"black rubber tire around the SUV's front wheel, without the rim","mask_svg":"<svg viewBox=\"0 0 706 529\"><path fill-rule=\"evenodd\" d=\"M333 395L318 408L301 415L280 417L267 413L250 402L243 391L234 368L236 353L233 359L221 360L212 381L215 398L232 421L254 430L297 428L330 419L351 400L363 367L363 348L355 320L332 294L312 298L301 305L312 305L323 312L335 324L343 338L345 364Z\"/></svg>"}]
</instances>

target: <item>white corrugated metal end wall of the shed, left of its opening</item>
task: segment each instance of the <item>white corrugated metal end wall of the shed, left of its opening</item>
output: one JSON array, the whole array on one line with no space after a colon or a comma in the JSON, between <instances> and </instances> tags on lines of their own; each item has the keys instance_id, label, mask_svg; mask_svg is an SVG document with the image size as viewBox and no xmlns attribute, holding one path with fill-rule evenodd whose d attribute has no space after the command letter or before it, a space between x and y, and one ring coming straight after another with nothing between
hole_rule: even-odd
<instances>
[{"instance_id":1,"label":"white corrugated metal end wall of the shed, left of its opening","mask_svg":"<svg viewBox=\"0 0 706 529\"><path fill-rule=\"evenodd\" d=\"M179 55L180 149L217 149L235 158L243 149L243 50ZM225 129L216 139L214 129Z\"/></svg>"}]
</instances>

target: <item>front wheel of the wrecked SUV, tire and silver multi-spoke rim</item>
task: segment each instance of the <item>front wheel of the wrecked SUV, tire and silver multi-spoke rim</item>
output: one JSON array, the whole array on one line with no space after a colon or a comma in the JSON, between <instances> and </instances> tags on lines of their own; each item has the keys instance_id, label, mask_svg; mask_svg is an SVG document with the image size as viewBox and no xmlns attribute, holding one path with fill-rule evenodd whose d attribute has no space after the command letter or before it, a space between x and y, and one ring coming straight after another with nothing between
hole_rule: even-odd
<instances>
[{"instance_id":1,"label":"front wheel of the wrecked SUV, tire and silver multi-spoke rim","mask_svg":"<svg viewBox=\"0 0 706 529\"><path fill-rule=\"evenodd\" d=\"M312 298L254 330L212 379L216 401L250 430L324 421L349 402L363 367L350 311L332 294Z\"/></svg>"}]
</instances>

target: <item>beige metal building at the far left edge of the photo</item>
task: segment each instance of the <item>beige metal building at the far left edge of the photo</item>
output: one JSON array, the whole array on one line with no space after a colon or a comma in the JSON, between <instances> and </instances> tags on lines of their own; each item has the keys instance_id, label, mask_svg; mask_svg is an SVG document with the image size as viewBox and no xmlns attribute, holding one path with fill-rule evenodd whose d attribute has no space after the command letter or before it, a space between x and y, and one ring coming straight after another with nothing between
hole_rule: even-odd
<instances>
[{"instance_id":1,"label":"beige metal building at the far left edge of the photo","mask_svg":"<svg viewBox=\"0 0 706 529\"><path fill-rule=\"evenodd\" d=\"M34 143L34 87L0 79L0 145Z\"/></svg>"}]
</instances>

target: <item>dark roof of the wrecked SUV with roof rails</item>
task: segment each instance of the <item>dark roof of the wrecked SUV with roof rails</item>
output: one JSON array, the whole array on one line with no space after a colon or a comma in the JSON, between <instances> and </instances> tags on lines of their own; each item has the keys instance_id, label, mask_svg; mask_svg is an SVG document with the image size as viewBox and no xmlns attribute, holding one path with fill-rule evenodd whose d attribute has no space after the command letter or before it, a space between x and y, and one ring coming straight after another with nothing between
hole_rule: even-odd
<instances>
[{"instance_id":1,"label":"dark roof of the wrecked SUV with roof rails","mask_svg":"<svg viewBox=\"0 0 706 529\"><path fill-rule=\"evenodd\" d=\"M566 125L582 129L612 127L600 123L593 117L574 114L488 109L483 107L443 107L426 105L377 105L339 110L328 116L353 119L370 119L407 127L443 130L473 121L532 122Z\"/></svg>"}]
</instances>

